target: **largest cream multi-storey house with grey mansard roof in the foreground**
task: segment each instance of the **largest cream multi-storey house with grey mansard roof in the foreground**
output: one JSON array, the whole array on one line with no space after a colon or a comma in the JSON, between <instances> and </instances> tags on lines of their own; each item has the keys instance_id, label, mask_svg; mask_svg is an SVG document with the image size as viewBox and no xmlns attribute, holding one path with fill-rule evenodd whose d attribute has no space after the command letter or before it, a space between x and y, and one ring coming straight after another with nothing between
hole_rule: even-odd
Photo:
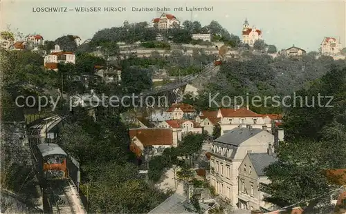
<instances>
[{"instance_id":1,"label":"largest cream multi-storey house with grey mansard roof in the foreground","mask_svg":"<svg viewBox=\"0 0 346 214\"><path fill-rule=\"evenodd\" d=\"M238 168L248 153L266 153L268 145L274 143L274 136L259 128L235 128L215 139L210 154L211 186L216 193L232 206L237 206Z\"/></svg>"}]
</instances>

